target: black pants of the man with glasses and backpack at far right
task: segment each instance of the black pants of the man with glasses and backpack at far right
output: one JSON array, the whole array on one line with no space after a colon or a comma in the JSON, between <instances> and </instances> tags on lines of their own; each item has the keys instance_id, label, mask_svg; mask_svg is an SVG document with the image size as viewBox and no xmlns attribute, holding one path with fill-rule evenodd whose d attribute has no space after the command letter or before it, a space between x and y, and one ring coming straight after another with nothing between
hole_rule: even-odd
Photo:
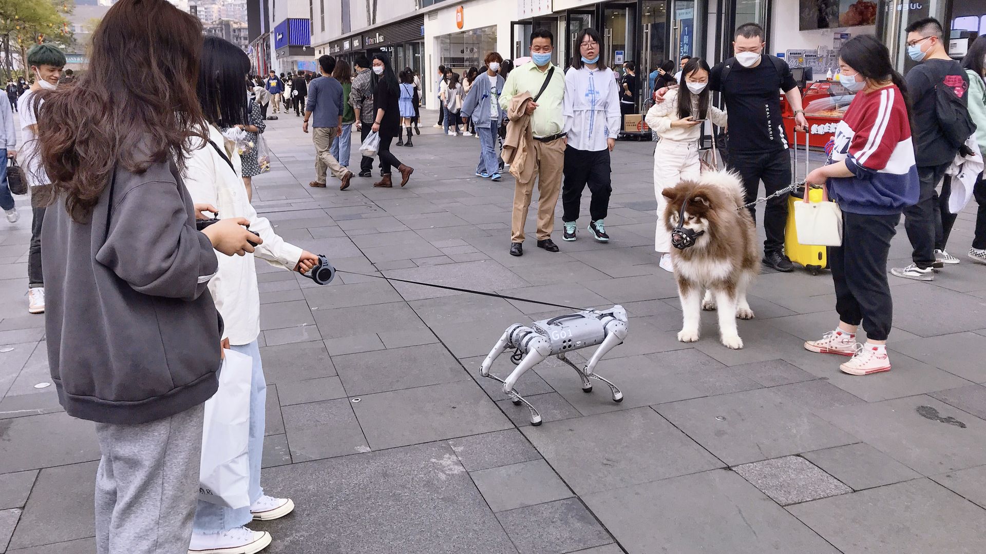
<instances>
[{"instance_id":1,"label":"black pants of the man with glasses and backpack at far right","mask_svg":"<svg viewBox=\"0 0 986 554\"><path fill-rule=\"evenodd\" d=\"M944 238L942 230L942 210L938 191L935 187L942 180L950 164L936 167L918 166L918 179L921 182L921 195L918 203L904 210L904 229L914 248L911 259L922 269L935 265L935 242ZM946 198L948 212L948 198Z\"/></svg>"}]
</instances>

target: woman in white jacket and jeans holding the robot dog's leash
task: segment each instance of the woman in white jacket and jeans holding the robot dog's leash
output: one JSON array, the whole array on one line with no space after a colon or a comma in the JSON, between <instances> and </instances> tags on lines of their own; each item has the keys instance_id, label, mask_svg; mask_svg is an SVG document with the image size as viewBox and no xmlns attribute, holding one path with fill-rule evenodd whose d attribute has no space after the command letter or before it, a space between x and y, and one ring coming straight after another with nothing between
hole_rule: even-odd
<instances>
[{"instance_id":1,"label":"woman in white jacket and jeans holding the robot dog's leash","mask_svg":"<svg viewBox=\"0 0 986 554\"><path fill-rule=\"evenodd\" d=\"M270 544L270 534L252 531L244 526L246 522L281 518L294 509L290 499L264 495L260 488L266 381L256 340L260 334L260 295L253 256L302 273L315 266L317 256L284 242L266 218L257 216L240 176L240 156L219 131L220 127L246 122L243 81L249 68L249 58L235 44L218 36L205 37L198 98L209 123L209 137L193 139L197 148L185 163L184 184L196 204L211 205L223 218L246 218L250 231L263 239L253 254L220 256L219 269L209 282L209 292L225 324L223 347L246 354L253 361L247 447L251 505L234 510L199 501L189 549L201 554L258 552Z\"/></svg>"}]
</instances>

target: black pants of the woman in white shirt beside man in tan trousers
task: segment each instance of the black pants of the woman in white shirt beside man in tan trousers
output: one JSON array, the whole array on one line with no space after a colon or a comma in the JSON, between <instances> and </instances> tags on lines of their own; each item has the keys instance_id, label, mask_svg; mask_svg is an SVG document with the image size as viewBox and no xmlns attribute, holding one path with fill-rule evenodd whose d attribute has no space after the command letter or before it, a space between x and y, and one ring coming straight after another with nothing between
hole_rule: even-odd
<instances>
[{"instance_id":1,"label":"black pants of the woman in white shirt beside man in tan trousers","mask_svg":"<svg viewBox=\"0 0 986 554\"><path fill-rule=\"evenodd\" d=\"M593 193L589 214L593 221L606 218L609 194L612 192L609 168L609 151L590 152L565 148L565 179L561 187L561 203L564 209L561 220L569 223L579 219L582 191L586 184Z\"/></svg>"}]
</instances>

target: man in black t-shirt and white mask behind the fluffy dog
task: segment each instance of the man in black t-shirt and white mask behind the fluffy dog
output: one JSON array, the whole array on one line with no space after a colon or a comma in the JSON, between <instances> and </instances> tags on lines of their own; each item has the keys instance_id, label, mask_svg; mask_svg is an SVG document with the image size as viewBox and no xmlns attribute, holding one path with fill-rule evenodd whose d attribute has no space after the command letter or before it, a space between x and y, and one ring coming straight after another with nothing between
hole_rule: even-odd
<instances>
[{"instance_id":1,"label":"man in black t-shirt and white mask behind the fluffy dog","mask_svg":"<svg viewBox=\"0 0 986 554\"><path fill-rule=\"evenodd\" d=\"M801 92L782 60L764 54L763 28L755 23L737 29L733 48L736 57L717 64L709 75L709 90L723 93L729 116L730 141L727 161L740 173L746 202L756 200L763 181L767 195L791 184L791 158L788 137L781 120L779 91L787 96L795 111L799 128L808 129ZM749 208L756 221L756 206ZM777 271L791 271L794 265L784 255L784 231L788 219L788 199L778 196L767 201L763 228L763 263Z\"/></svg>"}]
</instances>

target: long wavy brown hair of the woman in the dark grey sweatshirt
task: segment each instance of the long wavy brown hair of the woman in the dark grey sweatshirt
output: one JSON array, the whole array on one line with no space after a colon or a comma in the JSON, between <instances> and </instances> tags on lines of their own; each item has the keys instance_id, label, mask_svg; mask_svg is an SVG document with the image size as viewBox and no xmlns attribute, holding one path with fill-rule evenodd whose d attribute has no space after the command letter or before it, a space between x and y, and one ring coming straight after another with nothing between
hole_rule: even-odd
<instances>
[{"instance_id":1,"label":"long wavy brown hair of the woman in the dark grey sweatshirt","mask_svg":"<svg viewBox=\"0 0 986 554\"><path fill-rule=\"evenodd\" d=\"M119 0L93 33L91 62L78 84L44 95L41 162L51 179L42 200L88 221L114 167L144 173L190 153L206 136L195 94L202 25L167 0Z\"/></svg>"}]
</instances>

